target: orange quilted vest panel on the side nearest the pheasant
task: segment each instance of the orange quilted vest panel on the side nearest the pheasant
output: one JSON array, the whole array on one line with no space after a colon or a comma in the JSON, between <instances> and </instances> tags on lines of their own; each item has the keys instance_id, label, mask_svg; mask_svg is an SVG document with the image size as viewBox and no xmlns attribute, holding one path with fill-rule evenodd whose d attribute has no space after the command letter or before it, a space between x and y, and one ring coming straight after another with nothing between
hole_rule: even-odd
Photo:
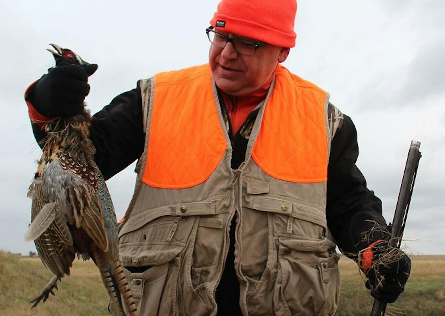
<instances>
[{"instance_id":1,"label":"orange quilted vest panel on the side nearest the pheasant","mask_svg":"<svg viewBox=\"0 0 445 316\"><path fill-rule=\"evenodd\" d=\"M162 72L154 80L142 181L156 188L201 184L214 172L227 148L210 68L205 64Z\"/></svg>"}]
</instances>

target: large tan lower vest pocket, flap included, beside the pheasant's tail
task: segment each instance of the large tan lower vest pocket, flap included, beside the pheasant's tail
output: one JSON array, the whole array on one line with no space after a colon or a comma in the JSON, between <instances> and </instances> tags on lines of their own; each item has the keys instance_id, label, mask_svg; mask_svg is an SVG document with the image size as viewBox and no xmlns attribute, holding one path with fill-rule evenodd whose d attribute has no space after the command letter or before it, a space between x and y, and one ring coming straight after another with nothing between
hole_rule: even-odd
<instances>
[{"instance_id":1,"label":"large tan lower vest pocket, flap included, beside the pheasant's tail","mask_svg":"<svg viewBox=\"0 0 445 316\"><path fill-rule=\"evenodd\" d=\"M141 316L175 315L182 308L181 267L194 223L194 216L160 216L120 236L121 264Z\"/></svg>"}]
</instances>

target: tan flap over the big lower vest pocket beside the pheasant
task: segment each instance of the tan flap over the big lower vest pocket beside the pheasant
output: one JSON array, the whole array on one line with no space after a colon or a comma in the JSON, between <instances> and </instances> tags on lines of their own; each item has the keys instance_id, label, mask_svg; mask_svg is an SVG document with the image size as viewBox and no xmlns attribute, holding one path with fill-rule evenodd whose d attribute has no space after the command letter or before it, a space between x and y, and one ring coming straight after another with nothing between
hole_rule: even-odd
<instances>
[{"instance_id":1,"label":"tan flap over the big lower vest pocket beside the pheasant","mask_svg":"<svg viewBox=\"0 0 445 316\"><path fill-rule=\"evenodd\" d=\"M159 265L173 260L185 247L180 243L147 242L121 244L121 264L124 266Z\"/></svg>"}]
</instances>

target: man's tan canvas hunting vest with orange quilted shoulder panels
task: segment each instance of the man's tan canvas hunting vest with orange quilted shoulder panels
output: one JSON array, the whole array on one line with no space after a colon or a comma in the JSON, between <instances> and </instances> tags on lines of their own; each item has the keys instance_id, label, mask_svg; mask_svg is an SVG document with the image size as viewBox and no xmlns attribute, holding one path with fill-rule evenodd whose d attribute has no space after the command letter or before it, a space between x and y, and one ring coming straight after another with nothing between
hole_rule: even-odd
<instances>
[{"instance_id":1,"label":"man's tan canvas hunting vest with orange quilted shoulder panels","mask_svg":"<svg viewBox=\"0 0 445 316\"><path fill-rule=\"evenodd\" d=\"M141 315L216 315L235 212L243 314L333 315L328 94L279 66L233 171L208 65L160 73L141 91L146 145L119 232L122 265L153 266L127 273Z\"/></svg>"}]
</instances>

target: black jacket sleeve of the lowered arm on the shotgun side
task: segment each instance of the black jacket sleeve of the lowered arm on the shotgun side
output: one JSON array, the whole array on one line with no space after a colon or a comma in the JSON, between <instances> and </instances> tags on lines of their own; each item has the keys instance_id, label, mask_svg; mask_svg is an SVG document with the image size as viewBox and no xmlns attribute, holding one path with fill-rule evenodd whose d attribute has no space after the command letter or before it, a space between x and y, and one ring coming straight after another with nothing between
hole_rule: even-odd
<instances>
[{"instance_id":1,"label":"black jacket sleeve of the lowered arm on the shotgun side","mask_svg":"<svg viewBox=\"0 0 445 316\"><path fill-rule=\"evenodd\" d=\"M329 230L345 254L356 254L373 241L388 237L381 201L368 190L356 166L358 154L356 128L344 116L331 142L326 217Z\"/></svg>"}]
</instances>

